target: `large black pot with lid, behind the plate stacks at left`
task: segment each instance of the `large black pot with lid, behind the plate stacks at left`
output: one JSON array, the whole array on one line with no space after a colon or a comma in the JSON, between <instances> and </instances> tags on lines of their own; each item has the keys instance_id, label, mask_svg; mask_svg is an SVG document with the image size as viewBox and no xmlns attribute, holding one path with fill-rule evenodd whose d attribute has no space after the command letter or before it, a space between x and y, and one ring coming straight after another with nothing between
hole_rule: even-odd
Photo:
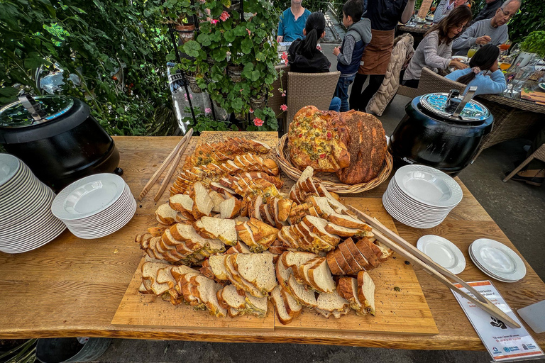
<instances>
[{"instance_id":1,"label":"large black pot with lid, behind the plate stacks at left","mask_svg":"<svg viewBox=\"0 0 545 363\"><path fill-rule=\"evenodd\" d=\"M54 191L87 175L122 172L114 140L72 97L29 97L1 108L0 143Z\"/></svg>"}]
</instances>

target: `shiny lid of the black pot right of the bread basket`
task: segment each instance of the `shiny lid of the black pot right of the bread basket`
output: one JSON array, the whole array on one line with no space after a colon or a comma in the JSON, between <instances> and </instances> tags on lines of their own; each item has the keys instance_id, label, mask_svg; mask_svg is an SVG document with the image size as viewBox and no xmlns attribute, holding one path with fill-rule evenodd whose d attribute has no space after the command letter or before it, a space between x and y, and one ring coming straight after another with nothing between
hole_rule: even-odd
<instances>
[{"instance_id":1,"label":"shiny lid of the black pot right of the bread basket","mask_svg":"<svg viewBox=\"0 0 545 363\"><path fill-rule=\"evenodd\" d=\"M443 92L424 94L424 96L420 98L420 104L422 104L426 110L431 111L438 116L452 119L451 114L445 112L447 99L448 94ZM466 122L485 121L488 117L490 117L488 108L474 100L469 101L460 113L460 118Z\"/></svg>"}]
</instances>

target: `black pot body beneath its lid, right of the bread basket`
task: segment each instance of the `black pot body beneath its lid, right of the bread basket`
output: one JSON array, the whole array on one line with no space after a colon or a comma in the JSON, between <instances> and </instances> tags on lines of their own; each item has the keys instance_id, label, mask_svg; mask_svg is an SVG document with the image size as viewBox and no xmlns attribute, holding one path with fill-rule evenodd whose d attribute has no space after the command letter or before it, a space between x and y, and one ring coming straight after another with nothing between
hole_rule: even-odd
<instances>
[{"instance_id":1,"label":"black pot body beneath its lid, right of the bread basket","mask_svg":"<svg viewBox=\"0 0 545 363\"><path fill-rule=\"evenodd\" d=\"M456 175L473 160L494 118L480 104L485 111L480 120L448 118L425 108L420 100L418 96L405 106L407 115L390 137L395 164L424 164Z\"/></svg>"}]
</instances>

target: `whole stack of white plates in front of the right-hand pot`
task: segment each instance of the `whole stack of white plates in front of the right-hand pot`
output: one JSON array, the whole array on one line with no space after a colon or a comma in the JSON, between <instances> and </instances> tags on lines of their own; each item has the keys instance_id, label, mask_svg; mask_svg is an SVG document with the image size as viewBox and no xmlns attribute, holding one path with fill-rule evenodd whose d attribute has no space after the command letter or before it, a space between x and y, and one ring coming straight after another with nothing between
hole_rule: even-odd
<instances>
[{"instance_id":1,"label":"whole stack of white plates in front of the right-hand pot","mask_svg":"<svg viewBox=\"0 0 545 363\"><path fill-rule=\"evenodd\" d=\"M444 172L425 165L397 169L382 195L390 216L414 228L441 224L462 200L462 189Z\"/></svg>"}]
</instances>

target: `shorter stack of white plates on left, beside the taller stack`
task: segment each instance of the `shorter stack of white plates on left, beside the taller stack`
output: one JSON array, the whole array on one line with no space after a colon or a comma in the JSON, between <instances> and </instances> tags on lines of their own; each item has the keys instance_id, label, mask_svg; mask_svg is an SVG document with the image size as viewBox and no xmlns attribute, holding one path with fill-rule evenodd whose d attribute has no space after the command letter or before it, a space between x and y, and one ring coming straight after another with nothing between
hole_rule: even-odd
<instances>
[{"instance_id":1,"label":"shorter stack of white plates on left, beside the taller stack","mask_svg":"<svg viewBox=\"0 0 545 363\"><path fill-rule=\"evenodd\" d=\"M136 201L123 178L94 174L60 191L51 211L79 238L101 238L126 225Z\"/></svg>"}]
</instances>

